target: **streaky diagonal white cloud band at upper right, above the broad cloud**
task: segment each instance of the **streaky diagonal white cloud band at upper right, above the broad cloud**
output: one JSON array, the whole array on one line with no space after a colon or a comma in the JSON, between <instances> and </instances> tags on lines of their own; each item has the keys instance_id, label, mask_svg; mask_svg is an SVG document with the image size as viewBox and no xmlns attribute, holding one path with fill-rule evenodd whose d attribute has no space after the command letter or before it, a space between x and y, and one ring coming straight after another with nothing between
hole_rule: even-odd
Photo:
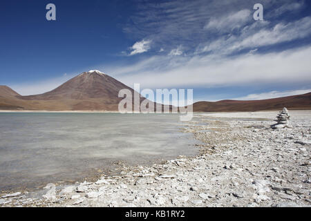
<instances>
[{"instance_id":1,"label":"streaky diagonal white cloud band at upper right, above the broad cloud","mask_svg":"<svg viewBox=\"0 0 311 221\"><path fill-rule=\"evenodd\" d=\"M214 41L199 44L196 54L212 52L215 55L230 55L245 48L258 49L288 41L303 39L311 35L311 17L304 17L290 23L277 23L267 28L268 21L256 21L251 26L245 26L239 35L219 37Z\"/></svg>"}]
</instances>

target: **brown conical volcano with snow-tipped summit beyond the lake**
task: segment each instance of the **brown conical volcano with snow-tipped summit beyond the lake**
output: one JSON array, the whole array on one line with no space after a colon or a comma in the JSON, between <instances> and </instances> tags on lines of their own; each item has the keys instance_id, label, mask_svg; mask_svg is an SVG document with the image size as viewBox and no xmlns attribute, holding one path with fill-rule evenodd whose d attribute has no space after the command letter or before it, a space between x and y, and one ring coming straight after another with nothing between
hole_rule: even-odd
<instances>
[{"instance_id":1,"label":"brown conical volcano with snow-tipped summit beyond the lake","mask_svg":"<svg viewBox=\"0 0 311 221\"><path fill-rule=\"evenodd\" d=\"M41 95L21 96L16 93L15 96L0 97L0 109L117 111L118 104L123 99L118 97L118 93L124 88L132 94L136 93L113 77L99 70L90 70Z\"/></svg>"}]
</instances>

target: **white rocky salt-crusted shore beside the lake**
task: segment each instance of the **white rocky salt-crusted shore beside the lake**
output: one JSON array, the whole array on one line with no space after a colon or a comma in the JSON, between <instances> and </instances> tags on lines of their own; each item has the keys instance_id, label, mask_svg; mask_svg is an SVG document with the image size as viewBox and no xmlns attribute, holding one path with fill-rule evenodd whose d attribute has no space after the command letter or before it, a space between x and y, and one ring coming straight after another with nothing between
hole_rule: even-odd
<instances>
[{"instance_id":1,"label":"white rocky salt-crusted shore beside the lake","mask_svg":"<svg viewBox=\"0 0 311 221\"><path fill-rule=\"evenodd\" d=\"M124 166L121 176L72 186L48 184L0 197L0 206L311 206L311 111L196 114L185 133L202 142L196 157Z\"/></svg>"}]
</instances>

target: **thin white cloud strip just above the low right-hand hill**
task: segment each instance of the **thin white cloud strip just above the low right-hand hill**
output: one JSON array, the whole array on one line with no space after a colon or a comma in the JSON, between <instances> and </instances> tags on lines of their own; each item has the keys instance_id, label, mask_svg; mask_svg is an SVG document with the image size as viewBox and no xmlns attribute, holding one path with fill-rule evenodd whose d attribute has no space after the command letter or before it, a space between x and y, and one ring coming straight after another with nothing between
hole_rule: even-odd
<instances>
[{"instance_id":1,"label":"thin white cloud strip just above the low right-hand hill","mask_svg":"<svg viewBox=\"0 0 311 221\"><path fill-rule=\"evenodd\" d=\"M245 97L236 97L234 99L238 100L256 100L256 99L271 99L271 98L277 98L277 97L287 97L292 95L303 95L306 93L310 93L310 89L304 89L304 90L287 90L287 91L270 91L267 93L260 93L260 94L250 94Z\"/></svg>"}]
</instances>

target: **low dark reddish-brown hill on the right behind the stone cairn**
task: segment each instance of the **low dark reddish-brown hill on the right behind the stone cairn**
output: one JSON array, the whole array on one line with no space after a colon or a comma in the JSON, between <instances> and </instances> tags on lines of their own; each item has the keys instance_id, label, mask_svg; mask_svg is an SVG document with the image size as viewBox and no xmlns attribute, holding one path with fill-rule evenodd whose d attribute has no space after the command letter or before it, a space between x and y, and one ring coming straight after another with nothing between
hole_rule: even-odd
<instances>
[{"instance_id":1,"label":"low dark reddish-brown hill on the right behind the stone cairn","mask_svg":"<svg viewBox=\"0 0 311 221\"><path fill-rule=\"evenodd\" d=\"M290 109L311 109L311 93L255 101L223 100L219 102L196 102L194 103L194 111L265 111L280 109L284 106Z\"/></svg>"}]
</instances>

